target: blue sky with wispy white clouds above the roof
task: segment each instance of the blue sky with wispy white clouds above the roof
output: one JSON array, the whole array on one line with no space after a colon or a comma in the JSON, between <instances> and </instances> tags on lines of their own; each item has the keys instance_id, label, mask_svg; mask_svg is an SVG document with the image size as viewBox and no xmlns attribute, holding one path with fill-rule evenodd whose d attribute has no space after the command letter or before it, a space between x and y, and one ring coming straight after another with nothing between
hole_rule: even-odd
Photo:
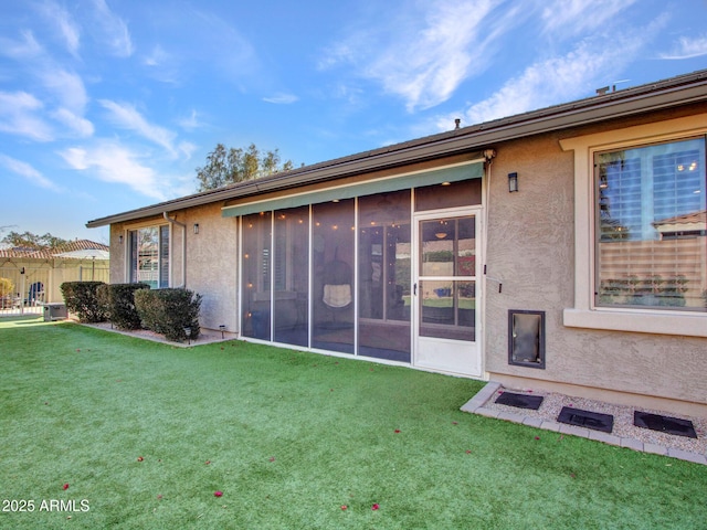
<instances>
[{"instance_id":1,"label":"blue sky with wispy white clouds above the roof","mask_svg":"<svg viewBox=\"0 0 707 530\"><path fill-rule=\"evenodd\" d=\"M308 165L706 67L705 0L3 1L0 227L106 242L218 142Z\"/></svg>"}]
</instances>

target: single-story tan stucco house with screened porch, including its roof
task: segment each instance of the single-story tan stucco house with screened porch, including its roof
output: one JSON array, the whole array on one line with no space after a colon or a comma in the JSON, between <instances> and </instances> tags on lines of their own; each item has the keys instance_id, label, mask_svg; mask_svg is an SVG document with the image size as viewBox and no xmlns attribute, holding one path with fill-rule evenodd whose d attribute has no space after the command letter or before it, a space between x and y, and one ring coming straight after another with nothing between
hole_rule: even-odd
<instances>
[{"instance_id":1,"label":"single-story tan stucco house with screened porch, including its roof","mask_svg":"<svg viewBox=\"0 0 707 530\"><path fill-rule=\"evenodd\" d=\"M703 71L87 226L243 340L707 415L706 135Z\"/></svg>"}]
</instances>

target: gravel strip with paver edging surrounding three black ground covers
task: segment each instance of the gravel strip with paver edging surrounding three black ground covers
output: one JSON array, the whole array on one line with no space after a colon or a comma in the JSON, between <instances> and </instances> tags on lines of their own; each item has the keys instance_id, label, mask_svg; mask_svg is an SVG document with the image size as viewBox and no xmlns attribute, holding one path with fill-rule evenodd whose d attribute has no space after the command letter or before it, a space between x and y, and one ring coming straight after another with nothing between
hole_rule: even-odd
<instances>
[{"instance_id":1,"label":"gravel strip with paver edging surrounding three black ground covers","mask_svg":"<svg viewBox=\"0 0 707 530\"><path fill-rule=\"evenodd\" d=\"M526 395L541 395L544 398L542 404L540 405L540 409L534 411L496 403L496 399L505 391ZM571 406L602 414L612 414L614 416L613 431L611 434L606 434L584 427L576 427L558 423L557 417L563 406ZM583 436L621 447L629 447L635 451L656 453L707 465L706 417L676 415L652 409L618 405L603 401L560 394L557 392L504 388L500 383L495 382L487 383L486 386L476 394L476 396L462 406L462 410L484 416L523 423L549 431L557 431L563 434ZM693 422L697 438L688 438L686 436L676 436L658 431L652 431L650 428L636 427L633 424L634 411L689 420Z\"/></svg>"}]
</instances>

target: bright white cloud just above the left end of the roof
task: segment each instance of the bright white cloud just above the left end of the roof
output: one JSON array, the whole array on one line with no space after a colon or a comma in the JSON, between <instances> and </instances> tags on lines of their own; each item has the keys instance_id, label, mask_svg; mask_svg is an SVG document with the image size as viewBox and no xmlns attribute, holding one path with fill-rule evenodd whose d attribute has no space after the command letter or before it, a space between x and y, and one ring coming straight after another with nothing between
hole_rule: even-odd
<instances>
[{"instance_id":1,"label":"bright white cloud just above the left end of the roof","mask_svg":"<svg viewBox=\"0 0 707 530\"><path fill-rule=\"evenodd\" d=\"M163 201L160 186L152 168L143 165L139 157L125 147L103 141L91 148L73 147L60 155L78 171L87 171L105 182L126 184L136 192Z\"/></svg>"}]
</instances>

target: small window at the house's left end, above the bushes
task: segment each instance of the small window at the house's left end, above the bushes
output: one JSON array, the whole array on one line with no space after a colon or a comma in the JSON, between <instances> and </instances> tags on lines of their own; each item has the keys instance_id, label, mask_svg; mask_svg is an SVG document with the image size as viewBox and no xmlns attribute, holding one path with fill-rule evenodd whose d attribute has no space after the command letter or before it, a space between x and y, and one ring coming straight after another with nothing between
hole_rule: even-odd
<instances>
[{"instance_id":1,"label":"small window at the house's left end, above the bushes","mask_svg":"<svg viewBox=\"0 0 707 530\"><path fill-rule=\"evenodd\" d=\"M169 287L169 225L131 230L128 241L129 282Z\"/></svg>"}]
</instances>

